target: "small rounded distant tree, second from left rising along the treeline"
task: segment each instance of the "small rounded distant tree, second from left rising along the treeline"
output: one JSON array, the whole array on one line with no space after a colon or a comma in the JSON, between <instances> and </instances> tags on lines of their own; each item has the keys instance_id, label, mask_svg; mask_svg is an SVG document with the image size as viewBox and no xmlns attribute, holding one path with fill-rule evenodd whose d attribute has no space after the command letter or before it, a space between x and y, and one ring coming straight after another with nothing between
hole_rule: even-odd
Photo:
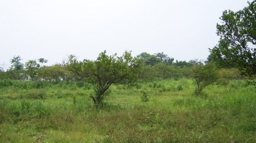
<instances>
[{"instance_id":1,"label":"small rounded distant tree, second from left rising along the treeline","mask_svg":"<svg viewBox=\"0 0 256 143\"><path fill-rule=\"evenodd\" d=\"M36 60L28 60L25 63L25 67L28 76L30 76L32 80L36 80L37 70L40 67L39 64L36 63Z\"/></svg>"}]
</instances>

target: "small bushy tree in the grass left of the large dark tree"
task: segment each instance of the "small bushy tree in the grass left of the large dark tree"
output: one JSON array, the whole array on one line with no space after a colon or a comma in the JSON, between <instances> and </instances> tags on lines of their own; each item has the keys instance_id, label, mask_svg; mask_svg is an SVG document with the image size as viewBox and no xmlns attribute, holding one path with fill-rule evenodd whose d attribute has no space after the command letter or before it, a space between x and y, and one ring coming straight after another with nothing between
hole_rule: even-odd
<instances>
[{"instance_id":1,"label":"small bushy tree in the grass left of the large dark tree","mask_svg":"<svg viewBox=\"0 0 256 143\"><path fill-rule=\"evenodd\" d=\"M218 70L212 62L206 65L197 64L192 68L191 77L196 80L196 94L201 94L201 91L208 85L213 84L219 78Z\"/></svg>"}]
</instances>

